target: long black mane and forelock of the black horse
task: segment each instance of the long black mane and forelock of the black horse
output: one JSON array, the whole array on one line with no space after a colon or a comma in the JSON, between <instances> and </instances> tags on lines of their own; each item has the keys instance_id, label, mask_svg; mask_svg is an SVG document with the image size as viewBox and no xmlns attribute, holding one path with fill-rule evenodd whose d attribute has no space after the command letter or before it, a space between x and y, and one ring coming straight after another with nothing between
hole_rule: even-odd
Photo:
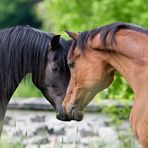
<instances>
[{"instance_id":1,"label":"long black mane and forelock of the black horse","mask_svg":"<svg viewBox=\"0 0 148 148\"><path fill-rule=\"evenodd\" d=\"M44 33L30 26L17 26L0 31L0 99L17 87L26 73L31 72L38 81L45 68L49 42L53 34ZM63 61L69 46L60 40L65 50L59 52ZM58 51L57 51L58 52Z\"/></svg>"}]
</instances>

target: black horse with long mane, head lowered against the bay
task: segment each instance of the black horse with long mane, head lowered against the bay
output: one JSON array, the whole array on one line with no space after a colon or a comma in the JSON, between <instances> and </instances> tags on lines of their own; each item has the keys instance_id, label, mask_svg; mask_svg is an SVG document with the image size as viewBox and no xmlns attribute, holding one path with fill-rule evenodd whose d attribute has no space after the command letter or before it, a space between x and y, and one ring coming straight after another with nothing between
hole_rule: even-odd
<instances>
[{"instance_id":1,"label":"black horse with long mane, head lowered against the bay","mask_svg":"<svg viewBox=\"0 0 148 148\"><path fill-rule=\"evenodd\" d=\"M30 26L0 31L0 133L7 104L15 89L32 74L33 83L58 111L70 72L66 62L70 41Z\"/></svg>"}]
</instances>

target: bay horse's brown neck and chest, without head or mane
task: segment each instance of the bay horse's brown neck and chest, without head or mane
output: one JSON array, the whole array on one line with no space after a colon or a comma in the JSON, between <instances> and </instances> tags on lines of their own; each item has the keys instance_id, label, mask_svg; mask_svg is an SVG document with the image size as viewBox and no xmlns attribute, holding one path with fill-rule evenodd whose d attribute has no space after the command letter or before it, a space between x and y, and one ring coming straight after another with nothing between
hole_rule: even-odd
<instances>
[{"instance_id":1,"label":"bay horse's brown neck and chest, without head or mane","mask_svg":"<svg viewBox=\"0 0 148 148\"><path fill-rule=\"evenodd\" d=\"M148 35L128 31L116 37L116 53L109 63L123 75L134 91L130 123L143 148L148 147Z\"/></svg>"}]
</instances>

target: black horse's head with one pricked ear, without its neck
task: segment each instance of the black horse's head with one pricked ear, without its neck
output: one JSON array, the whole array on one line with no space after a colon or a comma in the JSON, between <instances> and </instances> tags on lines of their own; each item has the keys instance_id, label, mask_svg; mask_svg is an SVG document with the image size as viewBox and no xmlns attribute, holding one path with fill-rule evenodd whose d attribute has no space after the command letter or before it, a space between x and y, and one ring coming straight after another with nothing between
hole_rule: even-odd
<instances>
[{"instance_id":1,"label":"black horse's head with one pricked ear, without its neck","mask_svg":"<svg viewBox=\"0 0 148 148\"><path fill-rule=\"evenodd\" d=\"M60 38L60 35L54 35L49 42L46 64L40 81L39 83L33 81L57 112L61 110L61 104L70 79L70 71L67 65L69 47L70 41Z\"/></svg>"}]
</instances>

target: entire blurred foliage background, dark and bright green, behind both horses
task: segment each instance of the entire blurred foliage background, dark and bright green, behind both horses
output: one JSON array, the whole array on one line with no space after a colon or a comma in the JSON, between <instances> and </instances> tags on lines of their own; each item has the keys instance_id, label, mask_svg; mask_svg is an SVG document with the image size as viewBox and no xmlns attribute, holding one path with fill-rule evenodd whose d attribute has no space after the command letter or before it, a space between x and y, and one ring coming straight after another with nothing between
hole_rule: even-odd
<instances>
[{"instance_id":1,"label":"entire blurred foliage background, dark and bright green, behind both horses","mask_svg":"<svg viewBox=\"0 0 148 148\"><path fill-rule=\"evenodd\" d=\"M81 32L125 21L148 26L147 0L0 0L0 27L29 24L44 31L62 34L64 30ZM41 96L29 81L15 96ZM113 84L96 98L132 99L127 82L117 74Z\"/></svg>"}]
</instances>

